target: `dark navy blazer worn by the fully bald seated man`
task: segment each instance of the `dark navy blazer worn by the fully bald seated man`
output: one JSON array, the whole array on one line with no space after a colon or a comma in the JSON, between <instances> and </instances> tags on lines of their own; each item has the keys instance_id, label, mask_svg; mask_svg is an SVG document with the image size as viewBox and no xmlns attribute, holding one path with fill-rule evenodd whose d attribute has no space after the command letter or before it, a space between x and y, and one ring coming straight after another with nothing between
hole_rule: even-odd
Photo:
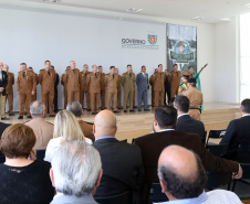
<instances>
[{"instance_id":1,"label":"dark navy blazer worn by the fully bald seated man","mask_svg":"<svg viewBox=\"0 0 250 204\"><path fill-rule=\"evenodd\" d=\"M140 149L115 138L98 139L93 146L100 152L103 168L95 197L112 196L132 190L133 204L138 203L144 175Z\"/></svg>"}]
</instances>

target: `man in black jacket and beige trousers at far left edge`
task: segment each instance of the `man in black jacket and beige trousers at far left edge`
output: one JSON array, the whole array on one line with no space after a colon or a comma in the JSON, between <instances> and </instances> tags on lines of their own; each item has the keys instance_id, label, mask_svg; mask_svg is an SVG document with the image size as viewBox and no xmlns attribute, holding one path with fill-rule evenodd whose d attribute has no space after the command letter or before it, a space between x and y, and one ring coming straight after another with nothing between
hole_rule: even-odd
<instances>
[{"instance_id":1,"label":"man in black jacket and beige trousers at far left edge","mask_svg":"<svg viewBox=\"0 0 250 204\"><path fill-rule=\"evenodd\" d=\"M9 120L6 117L6 87L8 85L8 75L7 72L3 71L3 64L0 63L0 111L1 111L1 120Z\"/></svg>"}]
</instances>

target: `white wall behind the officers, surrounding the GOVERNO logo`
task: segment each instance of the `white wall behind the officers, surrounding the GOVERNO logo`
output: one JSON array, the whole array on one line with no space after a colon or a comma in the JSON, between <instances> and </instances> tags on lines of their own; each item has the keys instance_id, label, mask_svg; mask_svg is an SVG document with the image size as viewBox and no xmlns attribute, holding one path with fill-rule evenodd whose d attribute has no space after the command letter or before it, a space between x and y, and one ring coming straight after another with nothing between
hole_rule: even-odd
<instances>
[{"instance_id":1,"label":"white wall behind the officers, surrounding the GOVERNO logo","mask_svg":"<svg viewBox=\"0 0 250 204\"><path fill-rule=\"evenodd\" d=\"M102 64L104 72L115 65L125 72L128 63L137 74L143 64L148 74L159 64L166 64L166 26L159 22L136 22L56 14L38 11L0 9L1 50L0 61L9 64L10 72L17 74L19 64L25 62L34 71L43 68L45 60L51 60L56 72L62 75L71 60L81 69L83 64ZM153 18L154 20L154 18ZM198 67L209 63L201 74L205 101L215 100L215 25L186 21L166 20L167 23L197 26ZM159 49L124 50L122 37L146 39L157 34ZM199 69L199 68L198 68ZM40 86L38 96L41 99ZM15 86L14 86L14 93ZM63 105L62 87L59 86L59 107ZM14 94L14 110L19 110L19 97Z\"/></svg>"}]
</instances>

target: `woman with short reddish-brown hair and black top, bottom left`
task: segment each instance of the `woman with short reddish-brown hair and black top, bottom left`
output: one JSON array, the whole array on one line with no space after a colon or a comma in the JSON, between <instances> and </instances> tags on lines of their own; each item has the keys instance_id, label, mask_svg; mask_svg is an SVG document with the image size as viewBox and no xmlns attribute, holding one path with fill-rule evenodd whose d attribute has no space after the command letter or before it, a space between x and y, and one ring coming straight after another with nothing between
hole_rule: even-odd
<instances>
[{"instance_id":1,"label":"woman with short reddish-brown hair and black top, bottom left","mask_svg":"<svg viewBox=\"0 0 250 204\"><path fill-rule=\"evenodd\" d=\"M6 162L0 164L1 204L49 204L54 195L50 181L51 164L35 160L33 130L22 124L8 127L0 149Z\"/></svg>"}]
</instances>

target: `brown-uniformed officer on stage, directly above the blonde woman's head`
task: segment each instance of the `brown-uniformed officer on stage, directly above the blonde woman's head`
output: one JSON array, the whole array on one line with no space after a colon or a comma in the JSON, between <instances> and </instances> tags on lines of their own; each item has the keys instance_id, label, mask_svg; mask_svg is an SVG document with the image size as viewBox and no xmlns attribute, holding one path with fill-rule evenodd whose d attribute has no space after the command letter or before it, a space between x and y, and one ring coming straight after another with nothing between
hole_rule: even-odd
<instances>
[{"instance_id":1,"label":"brown-uniformed officer on stage, directly above the blonde woman's head","mask_svg":"<svg viewBox=\"0 0 250 204\"><path fill-rule=\"evenodd\" d=\"M75 62L71 61L71 68L69 68L64 76L63 83L66 85L67 104L71 101L80 101L80 71L75 68Z\"/></svg>"}]
</instances>

